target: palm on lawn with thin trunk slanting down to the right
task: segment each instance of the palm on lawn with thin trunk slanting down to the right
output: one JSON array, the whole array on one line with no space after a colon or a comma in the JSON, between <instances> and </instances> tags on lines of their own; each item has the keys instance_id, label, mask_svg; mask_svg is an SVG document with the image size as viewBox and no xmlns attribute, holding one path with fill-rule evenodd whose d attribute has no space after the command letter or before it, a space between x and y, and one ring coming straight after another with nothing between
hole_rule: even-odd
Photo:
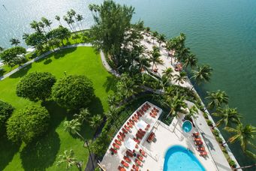
<instances>
[{"instance_id":1,"label":"palm on lawn with thin trunk slanting down to the right","mask_svg":"<svg viewBox=\"0 0 256 171\"><path fill-rule=\"evenodd\" d=\"M80 136L81 139L85 140L83 136L78 132L81 128L81 125L82 124L78 121L77 118L74 118L71 121L64 121L65 131L68 131L72 134L76 133L78 136Z\"/></svg>"}]
</instances>

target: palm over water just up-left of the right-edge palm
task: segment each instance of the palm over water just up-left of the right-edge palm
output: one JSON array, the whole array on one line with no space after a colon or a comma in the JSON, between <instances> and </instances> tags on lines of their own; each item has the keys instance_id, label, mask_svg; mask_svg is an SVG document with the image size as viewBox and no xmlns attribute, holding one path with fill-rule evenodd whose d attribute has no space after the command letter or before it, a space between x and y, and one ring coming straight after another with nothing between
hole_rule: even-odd
<instances>
[{"instance_id":1,"label":"palm over water just up-left of the right-edge palm","mask_svg":"<svg viewBox=\"0 0 256 171\"><path fill-rule=\"evenodd\" d=\"M214 127L218 127L220 124L224 124L224 127L230 126L230 124L238 124L240 118L242 118L235 108L230 108L228 106L224 107L224 109L218 107L216 112L212 113L212 115L221 118L217 121Z\"/></svg>"}]
</instances>

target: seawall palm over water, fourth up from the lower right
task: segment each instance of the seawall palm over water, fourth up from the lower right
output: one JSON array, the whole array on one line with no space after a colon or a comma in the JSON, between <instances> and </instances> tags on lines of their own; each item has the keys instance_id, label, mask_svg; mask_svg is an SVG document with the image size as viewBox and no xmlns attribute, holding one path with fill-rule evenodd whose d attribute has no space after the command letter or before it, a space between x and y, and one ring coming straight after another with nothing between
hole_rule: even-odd
<instances>
[{"instance_id":1,"label":"seawall palm over water, fourth up from the lower right","mask_svg":"<svg viewBox=\"0 0 256 171\"><path fill-rule=\"evenodd\" d=\"M192 73L193 76L191 78L195 80L195 83L200 85L200 83L209 82L212 75L212 68L209 65L198 66L197 71L193 70Z\"/></svg>"}]
</instances>

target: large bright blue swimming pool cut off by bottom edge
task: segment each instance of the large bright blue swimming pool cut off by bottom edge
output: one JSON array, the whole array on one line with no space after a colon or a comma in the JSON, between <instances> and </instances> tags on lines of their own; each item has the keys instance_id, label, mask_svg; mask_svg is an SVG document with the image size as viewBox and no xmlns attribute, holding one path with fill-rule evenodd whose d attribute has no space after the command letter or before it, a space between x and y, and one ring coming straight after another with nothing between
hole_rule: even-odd
<instances>
[{"instance_id":1,"label":"large bright blue swimming pool cut off by bottom edge","mask_svg":"<svg viewBox=\"0 0 256 171\"><path fill-rule=\"evenodd\" d=\"M197 157L181 145L171 146L164 157L164 171L206 170Z\"/></svg>"}]
</instances>

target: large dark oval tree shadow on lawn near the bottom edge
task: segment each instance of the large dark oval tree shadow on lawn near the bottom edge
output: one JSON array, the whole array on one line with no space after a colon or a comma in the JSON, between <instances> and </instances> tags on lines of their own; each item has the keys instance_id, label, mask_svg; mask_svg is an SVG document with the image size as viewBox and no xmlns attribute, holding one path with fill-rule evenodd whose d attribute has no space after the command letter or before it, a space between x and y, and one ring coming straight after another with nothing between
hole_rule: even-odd
<instances>
[{"instance_id":1,"label":"large dark oval tree shadow on lawn near the bottom edge","mask_svg":"<svg viewBox=\"0 0 256 171\"><path fill-rule=\"evenodd\" d=\"M60 139L55 130L50 130L46 136L36 139L20 152L25 170L45 170L52 166L60 148Z\"/></svg>"}]
</instances>

